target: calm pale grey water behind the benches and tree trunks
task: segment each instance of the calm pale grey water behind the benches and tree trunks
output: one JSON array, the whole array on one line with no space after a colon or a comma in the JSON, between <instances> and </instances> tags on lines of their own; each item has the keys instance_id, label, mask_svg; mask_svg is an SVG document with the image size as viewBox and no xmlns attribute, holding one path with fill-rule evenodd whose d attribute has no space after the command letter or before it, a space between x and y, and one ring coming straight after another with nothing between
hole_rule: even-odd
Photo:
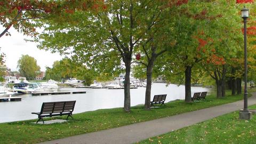
<instances>
[{"instance_id":1,"label":"calm pale grey water behind the benches and tree trunks","mask_svg":"<svg viewBox=\"0 0 256 144\"><path fill-rule=\"evenodd\" d=\"M117 108L124 105L124 90L108 89L61 89L61 91L86 91L85 94L63 94L63 95L43 95L31 96L22 95L22 101L0 102L0 123L21 121L26 119L36 119L37 115L31 112L41 110L42 102L76 100L74 113L82 113L97 109ZM131 89L131 106L135 106L145 101L146 87ZM210 91L203 87L191 87L191 93ZM185 86L171 84L154 83L151 90L151 100L155 94L167 94L166 102L175 99L185 99Z\"/></svg>"}]
</instances>

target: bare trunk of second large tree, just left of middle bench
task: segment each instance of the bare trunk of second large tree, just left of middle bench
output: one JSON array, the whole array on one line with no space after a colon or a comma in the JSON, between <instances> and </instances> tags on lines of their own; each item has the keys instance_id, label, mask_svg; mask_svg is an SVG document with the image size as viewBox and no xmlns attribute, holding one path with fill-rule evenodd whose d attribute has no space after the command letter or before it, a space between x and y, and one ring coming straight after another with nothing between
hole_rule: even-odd
<instances>
[{"instance_id":1,"label":"bare trunk of second large tree, just left of middle bench","mask_svg":"<svg viewBox=\"0 0 256 144\"><path fill-rule=\"evenodd\" d=\"M145 109L150 110L150 97L151 97L151 83L152 83L152 73L154 67L154 60L148 62L147 67L147 87L145 94Z\"/></svg>"}]
</instances>

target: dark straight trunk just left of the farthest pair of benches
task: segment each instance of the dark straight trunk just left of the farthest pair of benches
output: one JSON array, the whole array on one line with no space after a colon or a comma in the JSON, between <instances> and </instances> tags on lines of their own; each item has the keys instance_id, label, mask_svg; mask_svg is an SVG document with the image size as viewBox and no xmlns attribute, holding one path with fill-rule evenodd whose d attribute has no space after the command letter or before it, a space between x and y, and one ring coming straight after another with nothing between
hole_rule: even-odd
<instances>
[{"instance_id":1,"label":"dark straight trunk just left of the farthest pair of benches","mask_svg":"<svg viewBox=\"0 0 256 144\"><path fill-rule=\"evenodd\" d=\"M191 66L185 70L185 102L191 102Z\"/></svg>"}]
</instances>

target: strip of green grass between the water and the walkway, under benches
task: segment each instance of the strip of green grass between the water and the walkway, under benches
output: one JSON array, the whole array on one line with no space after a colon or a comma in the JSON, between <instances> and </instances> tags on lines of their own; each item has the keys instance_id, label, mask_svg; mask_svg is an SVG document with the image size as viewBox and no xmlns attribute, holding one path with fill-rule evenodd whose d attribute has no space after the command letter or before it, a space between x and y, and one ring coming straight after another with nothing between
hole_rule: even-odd
<instances>
[{"instance_id":1,"label":"strip of green grass between the water and the walkway, under benches","mask_svg":"<svg viewBox=\"0 0 256 144\"><path fill-rule=\"evenodd\" d=\"M229 94L230 92L227 92L227 95ZM49 125L31 124L31 122L36 122L36 119L1 123L0 143L36 143L65 138L72 135L105 130L113 127L149 121L151 119L177 115L187 111L222 105L224 103L234 102L241 99L243 99L242 95L229 95L226 98L216 99L214 94L207 95L206 101L185 103L183 100L176 100L166 103L166 106L151 109L150 111L144 110L143 106L132 107L131 113L124 113L122 108L88 111L73 115L75 120L70 120L65 123ZM65 119L66 116L55 117L55 119L57 118Z\"/></svg>"}]
</instances>

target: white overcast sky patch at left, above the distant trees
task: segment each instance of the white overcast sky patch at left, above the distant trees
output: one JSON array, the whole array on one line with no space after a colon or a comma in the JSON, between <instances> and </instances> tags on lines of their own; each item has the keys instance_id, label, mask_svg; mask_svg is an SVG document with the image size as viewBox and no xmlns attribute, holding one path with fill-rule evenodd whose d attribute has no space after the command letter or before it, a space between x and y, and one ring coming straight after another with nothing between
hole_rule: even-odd
<instances>
[{"instance_id":1,"label":"white overcast sky patch at left, above the distant trees","mask_svg":"<svg viewBox=\"0 0 256 144\"><path fill-rule=\"evenodd\" d=\"M4 30L0 26L0 33ZM2 36L0 38L0 52L6 54L5 65L11 70L17 69L17 61L22 54L28 54L37 60L37 65L41 67L41 71L45 71L45 67L52 67L52 64L56 60L61 60L64 56L60 56L59 53L51 53L50 51L39 50L36 47L36 43L26 42L24 39L27 36L18 33L14 28L10 28L11 36Z\"/></svg>"}]
</instances>

